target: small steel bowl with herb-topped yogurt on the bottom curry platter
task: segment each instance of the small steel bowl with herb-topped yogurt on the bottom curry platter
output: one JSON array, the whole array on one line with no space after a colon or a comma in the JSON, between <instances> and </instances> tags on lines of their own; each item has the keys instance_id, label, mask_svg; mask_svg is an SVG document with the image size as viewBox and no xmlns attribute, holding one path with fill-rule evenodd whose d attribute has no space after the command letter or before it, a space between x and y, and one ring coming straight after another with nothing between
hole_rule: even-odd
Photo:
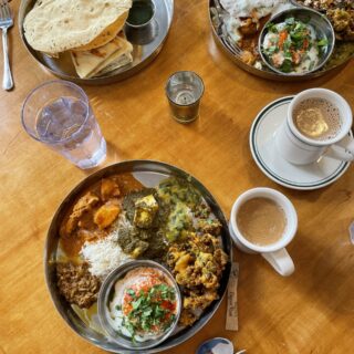
<instances>
[{"instance_id":1,"label":"small steel bowl with herb-topped yogurt on the bottom curry platter","mask_svg":"<svg viewBox=\"0 0 354 354\"><path fill-rule=\"evenodd\" d=\"M129 261L112 271L98 294L98 316L112 341L147 350L176 330L181 311L179 288L169 271L149 260Z\"/></svg>"}]
</instances>

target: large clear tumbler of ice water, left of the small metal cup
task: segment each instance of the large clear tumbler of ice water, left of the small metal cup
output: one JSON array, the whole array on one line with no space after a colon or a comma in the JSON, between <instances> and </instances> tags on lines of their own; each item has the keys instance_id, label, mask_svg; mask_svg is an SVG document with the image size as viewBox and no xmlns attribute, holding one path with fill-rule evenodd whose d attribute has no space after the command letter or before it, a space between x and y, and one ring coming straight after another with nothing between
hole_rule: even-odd
<instances>
[{"instance_id":1,"label":"large clear tumbler of ice water, left of the small metal cup","mask_svg":"<svg viewBox=\"0 0 354 354\"><path fill-rule=\"evenodd\" d=\"M92 168L106 157L106 142L77 85L62 80L35 87L21 112L27 133L66 157L80 168Z\"/></svg>"}]
</instances>

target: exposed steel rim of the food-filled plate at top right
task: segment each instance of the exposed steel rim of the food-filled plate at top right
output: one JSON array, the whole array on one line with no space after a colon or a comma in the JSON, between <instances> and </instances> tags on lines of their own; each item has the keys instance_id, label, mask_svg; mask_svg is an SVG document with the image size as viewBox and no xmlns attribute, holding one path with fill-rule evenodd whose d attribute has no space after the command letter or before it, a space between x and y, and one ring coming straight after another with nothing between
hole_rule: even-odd
<instances>
[{"instance_id":1,"label":"exposed steel rim of the food-filled plate at top right","mask_svg":"<svg viewBox=\"0 0 354 354\"><path fill-rule=\"evenodd\" d=\"M244 71L269 80L274 81L283 81L283 82L293 82L293 81L305 81L311 80L314 77L323 76L330 73L335 73L342 67L344 67L353 58L354 58L354 42L336 42L333 54L326 65L321 69L320 71L308 73L304 75L299 76L287 76L278 74L269 69L257 69L252 65L248 65L244 62L241 61L240 58L235 55L230 48L228 48L228 44L222 39L222 35L218 34L218 28L216 24L216 21L214 19L214 15L216 13L217 6L219 3L219 0L209 0L209 20L210 25L212 30L212 35L216 41L216 43L219 45L219 48L226 53L226 55L233 61L239 67L243 69Z\"/></svg>"}]
</instances>

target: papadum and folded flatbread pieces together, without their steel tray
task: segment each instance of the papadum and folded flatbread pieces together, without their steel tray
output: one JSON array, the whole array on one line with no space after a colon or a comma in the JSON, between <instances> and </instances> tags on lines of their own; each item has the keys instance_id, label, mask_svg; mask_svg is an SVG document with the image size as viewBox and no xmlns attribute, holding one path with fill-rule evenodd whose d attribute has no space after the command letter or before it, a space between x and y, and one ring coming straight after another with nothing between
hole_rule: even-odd
<instances>
[{"instance_id":1,"label":"papadum and folded flatbread pieces together, without their steel tray","mask_svg":"<svg viewBox=\"0 0 354 354\"><path fill-rule=\"evenodd\" d=\"M103 75L133 61L122 29L132 0L38 0L23 29L37 51L70 52L82 79Z\"/></svg>"}]
</instances>

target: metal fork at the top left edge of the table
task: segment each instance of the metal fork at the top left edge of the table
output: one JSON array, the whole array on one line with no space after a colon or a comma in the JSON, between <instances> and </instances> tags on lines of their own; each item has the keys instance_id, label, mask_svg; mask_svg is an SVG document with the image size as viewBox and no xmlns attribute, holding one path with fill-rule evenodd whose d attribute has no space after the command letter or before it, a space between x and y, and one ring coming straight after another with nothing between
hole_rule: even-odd
<instances>
[{"instance_id":1,"label":"metal fork at the top left edge of the table","mask_svg":"<svg viewBox=\"0 0 354 354\"><path fill-rule=\"evenodd\" d=\"M2 51L3 51L3 80L2 88L11 90L13 81L9 63L8 29L13 25L13 19L8 0L0 0L0 29L2 30Z\"/></svg>"}]
</instances>

